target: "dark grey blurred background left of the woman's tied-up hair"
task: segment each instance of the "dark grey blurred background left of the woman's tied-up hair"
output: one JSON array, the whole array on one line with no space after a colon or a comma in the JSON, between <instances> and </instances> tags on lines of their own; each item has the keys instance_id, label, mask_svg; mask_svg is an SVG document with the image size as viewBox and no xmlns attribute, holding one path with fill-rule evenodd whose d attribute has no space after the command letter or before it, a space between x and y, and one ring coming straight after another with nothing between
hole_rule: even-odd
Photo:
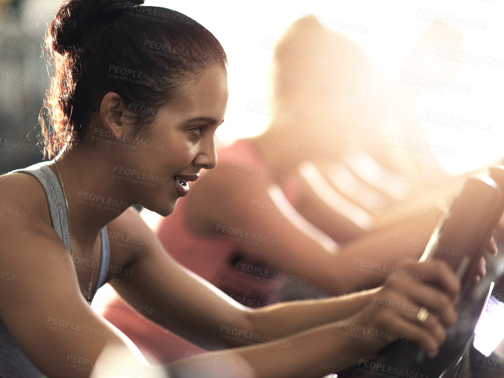
<instances>
[{"instance_id":1,"label":"dark grey blurred background left of the woman's tied-up hair","mask_svg":"<svg viewBox=\"0 0 504 378\"><path fill-rule=\"evenodd\" d=\"M0 0L0 174L42 160L35 126L49 78L41 43L60 3Z\"/></svg>"}]
</instances>

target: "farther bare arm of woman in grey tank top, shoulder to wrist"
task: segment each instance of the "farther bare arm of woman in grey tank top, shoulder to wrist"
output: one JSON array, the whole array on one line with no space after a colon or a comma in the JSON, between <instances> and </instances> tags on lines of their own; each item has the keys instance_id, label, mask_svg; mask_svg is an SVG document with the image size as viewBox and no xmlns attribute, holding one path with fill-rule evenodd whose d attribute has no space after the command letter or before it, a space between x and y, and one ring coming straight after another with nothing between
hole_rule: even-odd
<instances>
[{"instance_id":1,"label":"farther bare arm of woman in grey tank top, shoulder to wrist","mask_svg":"<svg viewBox=\"0 0 504 378\"><path fill-rule=\"evenodd\" d=\"M241 341L228 337L229 332L262 329L263 311L241 305L178 264L133 209L110 222L107 228L109 235L121 235L123 240L121 246L110 244L112 254L135 251L126 268L133 272L131 277L117 274L110 284L128 303L135 304L143 316L206 349L243 346ZM268 324L279 323L270 336L285 337L349 317L369 304L375 292L373 289L336 298L268 306L264 312L273 314Z\"/></svg>"}]
</instances>

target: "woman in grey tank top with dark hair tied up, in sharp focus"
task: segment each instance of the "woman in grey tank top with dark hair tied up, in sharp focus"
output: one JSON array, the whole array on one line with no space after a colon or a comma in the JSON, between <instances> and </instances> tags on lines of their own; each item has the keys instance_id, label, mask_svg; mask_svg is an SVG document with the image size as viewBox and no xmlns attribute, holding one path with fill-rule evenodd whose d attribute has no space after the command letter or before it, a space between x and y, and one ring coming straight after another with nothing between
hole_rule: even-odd
<instances>
[{"instance_id":1,"label":"woman in grey tank top with dark hair tied up, in sharp focus","mask_svg":"<svg viewBox=\"0 0 504 378\"><path fill-rule=\"evenodd\" d=\"M132 3L73 0L51 24L59 55L43 115L55 133L44 130L49 156L62 152L0 177L2 204L16 209L0 217L0 376L320 377L394 341L435 354L459 291L443 262L400 263L373 291L250 309L165 253L129 207L167 216L187 181L217 164L226 56L194 20ZM235 335L269 342L147 366L89 306L105 282L204 348L243 345ZM408 309L391 312L394 300Z\"/></svg>"}]
</instances>

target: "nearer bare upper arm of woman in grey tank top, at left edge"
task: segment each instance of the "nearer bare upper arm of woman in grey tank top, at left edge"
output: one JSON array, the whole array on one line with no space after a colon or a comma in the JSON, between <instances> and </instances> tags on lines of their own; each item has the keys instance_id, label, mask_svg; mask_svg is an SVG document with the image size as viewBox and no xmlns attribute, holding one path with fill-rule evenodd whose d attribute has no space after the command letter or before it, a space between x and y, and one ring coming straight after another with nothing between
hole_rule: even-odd
<instances>
[{"instance_id":1,"label":"nearer bare upper arm of woman in grey tank top, at left edge","mask_svg":"<svg viewBox=\"0 0 504 378\"><path fill-rule=\"evenodd\" d=\"M3 204L23 208L5 197ZM4 214L0 234L0 270L14 278L0 279L0 318L39 370L50 378L88 377L105 348L142 366L138 348L86 303L68 249L50 225Z\"/></svg>"}]
</instances>

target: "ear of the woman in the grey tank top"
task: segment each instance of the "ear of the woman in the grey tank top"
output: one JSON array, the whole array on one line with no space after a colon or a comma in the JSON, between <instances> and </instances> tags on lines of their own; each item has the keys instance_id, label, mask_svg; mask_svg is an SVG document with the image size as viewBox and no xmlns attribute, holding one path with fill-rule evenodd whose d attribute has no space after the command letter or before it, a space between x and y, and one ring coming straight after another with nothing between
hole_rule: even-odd
<instances>
[{"instance_id":1,"label":"ear of the woman in the grey tank top","mask_svg":"<svg viewBox=\"0 0 504 378\"><path fill-rule=\"evenodd\" d=\"M132 123L128 118L129 110L122 97L115 92L108 92L101 100L100 118L105 128L114 138L121 139L130 135Z\"/></svg>"}]
</instances>

